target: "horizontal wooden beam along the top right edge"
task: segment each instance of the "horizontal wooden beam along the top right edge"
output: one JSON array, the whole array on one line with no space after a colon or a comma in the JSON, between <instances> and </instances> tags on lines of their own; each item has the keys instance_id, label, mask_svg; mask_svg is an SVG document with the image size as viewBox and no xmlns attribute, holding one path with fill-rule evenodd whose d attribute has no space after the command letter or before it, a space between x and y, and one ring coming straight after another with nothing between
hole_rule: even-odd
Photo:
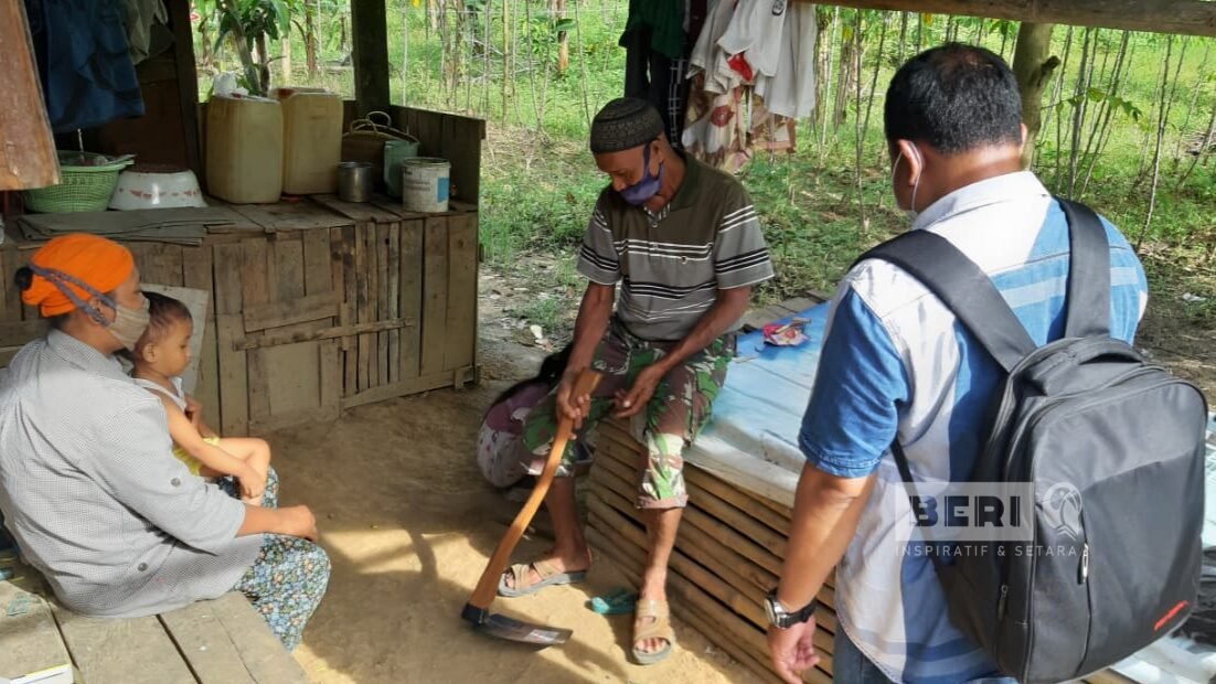
<instances>
[{"instance_id":1,"label":"horizontal wooden beam along the top right edge","mask_svg":"<svg viewBox=\"0 0 1216 684\"><path fill-rule=\"evenodd\" d=\"M1216 36L1216 2L1204 0L828 0L826 4Z\"/></svg>"}]
</instances>

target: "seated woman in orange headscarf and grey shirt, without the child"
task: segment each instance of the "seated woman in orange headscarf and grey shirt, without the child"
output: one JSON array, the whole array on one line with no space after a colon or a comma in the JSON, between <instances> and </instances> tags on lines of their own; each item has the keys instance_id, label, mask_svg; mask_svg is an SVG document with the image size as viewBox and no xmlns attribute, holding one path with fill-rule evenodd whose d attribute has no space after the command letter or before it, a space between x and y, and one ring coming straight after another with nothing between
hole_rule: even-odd
<instances>
[{"instance_id":1,"label":"seated woman in orange headscarf and grey shirt, without the child","mask_svg":"<svg viewBox=\"0 0 1216 684\"><path fill-rule=\"evenodd\" d=\"M123 245L57 237L16 273L50 322L0 373L0 511L64 606L141 617L243 592L287 649L330 580L304 505L242 503L174 458L161 401L114 354L148 326ZM274 471L271 471L272 475Z\"/></svg>"}]
</instances>

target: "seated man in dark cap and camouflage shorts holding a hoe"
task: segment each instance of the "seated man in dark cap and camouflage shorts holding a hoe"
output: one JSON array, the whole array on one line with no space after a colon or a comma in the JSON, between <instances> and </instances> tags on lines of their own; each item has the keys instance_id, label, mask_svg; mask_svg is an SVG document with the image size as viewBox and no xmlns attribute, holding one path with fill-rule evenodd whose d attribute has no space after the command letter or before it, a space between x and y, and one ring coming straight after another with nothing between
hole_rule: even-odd
<instances>
[{"instance_id":1,"label":"seated man in dark cap and camouflage shorts holding a hoe","mask_svg":"<svg viewBox=\"0 0 1216 684\"><path fill-rule=\"evenodd\" d=\"M587 430L609 413L644 418L646 463L638 464L649 555L634 623L634 657L670 655L668 559L687 502L683 452L709 418L734 355L733 330L751 287L772 277L760 222L743 186L668 143L663 119L635 98L604 106L591 124L596 165L612 179L601 192L579 255L591 282L582 296L570 361L558 388L534 409L524 445L540 473L557 412ZM620 298L615 311L617 283ZM572 397L579 373L603 381ZM581 580L591 565L574 508L574 448L545 499L557 543L548 558L516 565L499 587L517 597Z\"/></svg>"}]
</instances>

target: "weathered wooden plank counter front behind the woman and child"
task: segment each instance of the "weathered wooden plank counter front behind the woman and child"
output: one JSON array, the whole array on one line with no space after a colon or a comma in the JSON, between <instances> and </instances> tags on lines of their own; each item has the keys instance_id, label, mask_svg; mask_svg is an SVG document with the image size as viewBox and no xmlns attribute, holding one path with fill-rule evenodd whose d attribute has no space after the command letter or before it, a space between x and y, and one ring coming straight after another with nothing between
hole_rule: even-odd
<instances>
[{"instance_id":1,"label":"weathered wooden plank counter front behind the woman and child","mask_svg":"<svg viewBox=\"0 0 1216 684\"><path fill-rule=\"evenodd\" d=\"M145 282L212 294L195 395L221 433L477 380L475 209L317 197L226 210L237 222L198 247L124 242ZM45 329L11 286L38 247L0 250L0 366Z\"/></svg>"}]
</instances>

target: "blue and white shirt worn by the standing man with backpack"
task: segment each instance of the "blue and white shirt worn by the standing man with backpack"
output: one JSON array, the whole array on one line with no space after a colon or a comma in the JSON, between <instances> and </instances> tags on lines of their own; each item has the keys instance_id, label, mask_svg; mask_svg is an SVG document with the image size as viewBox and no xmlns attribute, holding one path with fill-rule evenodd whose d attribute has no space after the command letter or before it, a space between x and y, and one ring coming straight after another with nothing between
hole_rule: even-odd
<instances>
[{"instance_id":1,"label":"blue and white shirt worn by the standing man with backpack","mask_svg":"<svg viewBox=\"0 0 1216 684\"><path fill-rule=\"evenodd\" d=\"M1127 241L1103 222L1110 242L1110 333L1131 341L1148 301L1144 270ZM929 207L913 230L945 237L975 261L1035 344L1063 335L1068 222L1032 174L958 190ZM835 599L850 640L894 680L955 683L996 673L950 622L933 560L905 553L897 521L910 511L896 511L907 497L888 447L899 435L917 481L964 480L983 448L983 416L1001 379L996 362L953 313L899 267L867 260L845 276L800 442L826 473L877 471L837 569Z\"/></svg>"}]
</instances>

